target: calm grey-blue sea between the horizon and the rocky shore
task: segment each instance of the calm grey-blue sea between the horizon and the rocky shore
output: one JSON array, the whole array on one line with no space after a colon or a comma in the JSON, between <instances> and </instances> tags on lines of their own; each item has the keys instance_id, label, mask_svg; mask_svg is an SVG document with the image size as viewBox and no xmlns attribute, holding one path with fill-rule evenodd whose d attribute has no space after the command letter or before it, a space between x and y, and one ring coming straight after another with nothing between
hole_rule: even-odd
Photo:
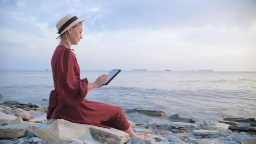
<instances>
[{"instance_id":1,"label":"calm grey-blue sea between the horizon and the rocky shore","mask_svg":"<svg viewBox=\"0 0 256 144\"><path fill-rule=\"evenodd\" d=\"M81 71L81 78L94 82L109 71ZM51 70L0 70L0 103L19 101L45 107L48 101L43 99L53 89ZM124 70L109 85L89 91L85 99L119 106L128 120L141 124L167 123L176 113L199 124L226 117L256 118L256 72ZM129 109L158 110L166 115L126 112Z\"/></svg>"}]
</instances>

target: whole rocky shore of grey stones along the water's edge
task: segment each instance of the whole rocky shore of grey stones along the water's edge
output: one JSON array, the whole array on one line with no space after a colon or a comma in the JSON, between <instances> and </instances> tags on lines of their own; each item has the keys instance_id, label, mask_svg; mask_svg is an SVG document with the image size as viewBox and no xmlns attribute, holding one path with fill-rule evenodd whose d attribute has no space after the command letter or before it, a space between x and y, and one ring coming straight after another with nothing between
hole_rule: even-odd
<instances>
[{"instance_id":1,"label":"whole rocky shore of grey stones along the water's edge","mask_svg":"<svg viewBox=\"0 0 256 144\"><path fill-rule=\"evenodd\" d=\"M256 121L253 118L226 118L216 123L197 124L195 120L175 114L166 120L131 127L147 140L130 138L114 128L71 123L66 120L46 120L48 107L0 103L0 144L256 144ZM166 112L145 109L125 111L161 117Z\"/></svg>"}]
</instances>

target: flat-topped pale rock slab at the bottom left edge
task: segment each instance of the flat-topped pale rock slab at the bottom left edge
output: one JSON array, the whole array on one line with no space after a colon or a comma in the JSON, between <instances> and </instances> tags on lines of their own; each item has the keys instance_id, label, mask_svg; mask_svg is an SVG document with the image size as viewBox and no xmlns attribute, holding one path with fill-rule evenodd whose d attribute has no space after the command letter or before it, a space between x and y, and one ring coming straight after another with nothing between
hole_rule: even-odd
<instances>
[{"instance_id":1,"label":"flat-topped pale rock slab at the bottom left edge","mask_svg":"<svg viewBox=\"0 0 256 144\"><path fill-rule=\"evenodd\" d=\"M0 139L13 139L17 137L27 136L27 127L33 124L18 124L0 126ZM42 124L41 124L42 125ZM34 127L41 126L40 124L33 125Z\"/></svg>"}]
</instances>

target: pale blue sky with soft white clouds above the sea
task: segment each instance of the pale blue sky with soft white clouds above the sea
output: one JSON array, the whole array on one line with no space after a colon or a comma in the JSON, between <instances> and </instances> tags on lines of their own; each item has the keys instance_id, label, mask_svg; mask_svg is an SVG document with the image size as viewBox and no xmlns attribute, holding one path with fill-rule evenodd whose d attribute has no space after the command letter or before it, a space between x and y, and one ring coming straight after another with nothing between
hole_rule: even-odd
<instances>
[{"instance_id":1,"label":"pale blue sky with soft white clouds above the sea","mask_svg":"<svg viewBox=\"0 0 256 144\"><path fill-rule=\"evenodd\" d=\"M256 0L0 0L0 69L51 69L69 13L81 70L256 71Z\"/></svg>"}]
</instances>

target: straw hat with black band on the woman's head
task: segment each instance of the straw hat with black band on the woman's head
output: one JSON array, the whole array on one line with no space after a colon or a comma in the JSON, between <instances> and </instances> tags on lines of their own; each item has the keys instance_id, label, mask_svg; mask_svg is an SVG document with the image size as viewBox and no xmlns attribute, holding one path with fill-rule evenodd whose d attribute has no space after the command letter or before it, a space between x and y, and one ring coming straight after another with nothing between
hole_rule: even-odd
<instances>
[{"instance_id":1,"label":"straw hat with black band on the woman's head","mask_svg":"<svg viewBox=\"0 0 256 144\"><path fill-rule=\"evenodd\" d=\"M67 16L62 17L56 24L56 28L58 29L57 34L59 34L59 36L56 39L58 39L64 32L73 27L75 24L84 21L85 19L80 20L74 14L69 14Z\"/></svg>"}]
</instances>

